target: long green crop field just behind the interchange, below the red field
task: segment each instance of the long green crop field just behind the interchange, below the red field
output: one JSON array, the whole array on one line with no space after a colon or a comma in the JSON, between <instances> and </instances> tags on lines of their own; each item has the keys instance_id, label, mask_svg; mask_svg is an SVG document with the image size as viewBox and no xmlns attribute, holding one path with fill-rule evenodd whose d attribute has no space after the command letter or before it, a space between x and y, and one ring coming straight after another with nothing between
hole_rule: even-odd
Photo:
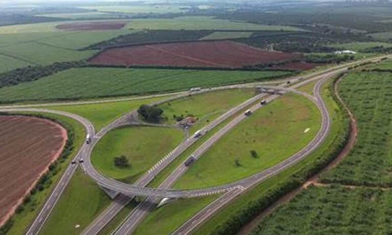
<instances>
[{"instance_id":1,"label":"long green crop field just behind the interchange, below the red field","mask_svg":"<svg viewBox=\"0 0 392 235\"><path fill-rule=\"evenodd\" d=\"M287 71L218 71L183 69L69 69L34 82L0 89L0 101L82 99L125 96L266 81Z\"/></svg>"}]
</instances>

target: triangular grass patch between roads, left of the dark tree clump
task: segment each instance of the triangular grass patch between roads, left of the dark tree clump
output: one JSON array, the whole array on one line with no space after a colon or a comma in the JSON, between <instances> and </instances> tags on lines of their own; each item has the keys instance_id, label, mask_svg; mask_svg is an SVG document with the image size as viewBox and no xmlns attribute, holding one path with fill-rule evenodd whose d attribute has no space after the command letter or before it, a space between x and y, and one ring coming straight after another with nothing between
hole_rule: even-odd
<instances>
[{"instance_id":1,"label":"triangular grass patch between roads, left of the dark tree clump","mask_svg":"<svg viewBox=\"0 0 392 235\"><path fill-rule=\"evenodd\" d=\"M61 110L85 117L94 125L98 132L102 127L106 126L111 121L114 121L116 118L121 117L127 112L138 109L140 105L152 103L160 99L164 99L164 97L92 103L88 105L50 106L44 108Z\"/></svg>"}]
</instances>

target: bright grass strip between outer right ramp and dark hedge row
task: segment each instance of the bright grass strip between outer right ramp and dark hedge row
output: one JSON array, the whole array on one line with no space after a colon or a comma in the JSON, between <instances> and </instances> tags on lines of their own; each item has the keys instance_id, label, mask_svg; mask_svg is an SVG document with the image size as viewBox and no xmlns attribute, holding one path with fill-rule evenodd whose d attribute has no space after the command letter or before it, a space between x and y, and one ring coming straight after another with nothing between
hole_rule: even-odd
<instances>
[{"instance_id":1,"label":"bright grass strip between outer right ramp and dark hedge row","mask_svg":"<svg viewBox=\"0 0 392 235\"><path fill-rule=\"evenodd\" d=\"M298 174L298 172L301 172L308 166L314 165L317 161L325 159L329 154L331 154L331 151L333 151L333 146L339 144L342 135L345 135L347 123L342 114L342 111L331 98L331 94L329 92L330 86L331 83L327 83L323 86L322 89L322 95L332 120L330 133L322 145L300 163L264 180L253 189L237 197L230 204L223 207L222 210L219 210L212 217L210 217L209 220L201 227L195 230L193 232L194 235L217 234L219 227L224 226L226 222L231 220L231 218L235 218L238 214L240 214L244 205L257 203L257 201L260 200L260 198L263 198L264 195L268 194L268 192L276 190L280 187L281 184L284 184L288 180L292 180L293 176Z\"/></svg>"}]
</instances>

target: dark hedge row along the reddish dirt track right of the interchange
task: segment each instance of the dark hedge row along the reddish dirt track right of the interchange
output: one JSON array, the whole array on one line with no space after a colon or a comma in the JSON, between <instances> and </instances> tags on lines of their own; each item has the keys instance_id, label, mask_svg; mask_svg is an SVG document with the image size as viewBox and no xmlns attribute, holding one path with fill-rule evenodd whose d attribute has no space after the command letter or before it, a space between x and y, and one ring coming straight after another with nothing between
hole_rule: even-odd
<instances>
[{"instance_id":1,"label":"dark hedge row along the reddish dirt track right of the interchange","mask_svg":"<svg viewBox=\"0 0 392 235\"><path fill-rule=\"evenodd\" d=\"M332 87L330 87L332 92ZM334 99L337 100L335 95ZM342 108L341 103L337 101ZM287 178L281 184L278 184L275 188L268 191L266 194L261 194L259 198L253 201L249 201L246 205L242 206L238 212L234 213L233 216L227 218L224 224L218 226L211 234L219 235L231 235L236 234L239 229L244 225L248 224L253 218L264 211L269 205L274 203L280 197L297 189L302 183L313 176L321 169L325 168L330 162L332 162L340 153L340 151L346 146L348 137L350 135L350 123L347 113L344 115L345 128L341 129L339 135L337 135L332 145L325 150L321 156L323 158L317 158L312 163L304 166L298 170L295 174Z\"/></svg>"}]
</instances>

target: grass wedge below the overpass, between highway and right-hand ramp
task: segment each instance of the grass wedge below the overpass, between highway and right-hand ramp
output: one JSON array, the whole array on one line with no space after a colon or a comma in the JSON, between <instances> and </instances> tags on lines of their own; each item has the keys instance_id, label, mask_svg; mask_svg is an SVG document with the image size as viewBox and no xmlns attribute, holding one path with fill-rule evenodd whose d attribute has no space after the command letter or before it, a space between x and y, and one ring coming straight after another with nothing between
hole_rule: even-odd
<instances>
[{"instance_id":1,"label":"grass wedge below the overpass, between highway and right-hand ramp","mask_svg":"<svg viewBox=\"0 0 392 235\"><path fill-rule=\"evenodd\" d=\"M135 235L171 234L182 225L188 218L198 213L202 208L219 195L201 198L177 199L147 214L143 221L136 227Z\"/></svg>"}]
</instances>

